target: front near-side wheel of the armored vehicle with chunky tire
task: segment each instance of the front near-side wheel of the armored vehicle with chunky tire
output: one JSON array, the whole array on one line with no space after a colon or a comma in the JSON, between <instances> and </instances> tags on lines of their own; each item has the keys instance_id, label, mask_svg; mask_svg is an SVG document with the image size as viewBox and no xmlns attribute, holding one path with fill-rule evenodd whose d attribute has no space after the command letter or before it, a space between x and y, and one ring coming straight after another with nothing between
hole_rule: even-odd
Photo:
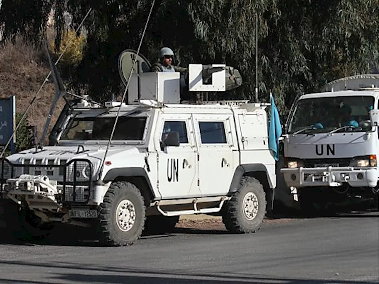
<instances>
[{"instance_id":1,"label":"front near-side wheel of the armored vehicle with chunky tire","mask_svg":"<svg viewBox=\"0 0 379 284\"><path fill-rule=\"evenodd\" d=\"M133 224L130 228L121 229L116 218L117 208L122 203L128 205L125 214L132 213ZM145 224L146 206L139 189L127 181L118 181L111 184L105 193L104 201L98 208L98 232L100 242L111 246L132 245L141 237ZM124 220L125 221L125 220ZM130 221L131 222L131 221ZM125 224L124 224L125 225Z\"/></svg>"}]
</instances>

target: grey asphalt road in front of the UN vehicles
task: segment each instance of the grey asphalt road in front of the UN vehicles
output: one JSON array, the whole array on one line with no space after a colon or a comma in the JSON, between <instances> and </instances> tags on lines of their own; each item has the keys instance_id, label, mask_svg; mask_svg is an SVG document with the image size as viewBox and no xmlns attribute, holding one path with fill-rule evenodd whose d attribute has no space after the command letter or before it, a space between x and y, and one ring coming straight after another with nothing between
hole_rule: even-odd
<instances>
[{"instance_id":1,"label":"grey asphalt road in front of the UN vehicles","mask_svg":"<svg viewBox=\"0 0 379 284\"><path fill-rule=\"evenodd\" d=\"M378 262L373 212L270 221L248 235L177 229L121 248L3 243L0 283L379 283Z\"/></svg>"}]
</instances>

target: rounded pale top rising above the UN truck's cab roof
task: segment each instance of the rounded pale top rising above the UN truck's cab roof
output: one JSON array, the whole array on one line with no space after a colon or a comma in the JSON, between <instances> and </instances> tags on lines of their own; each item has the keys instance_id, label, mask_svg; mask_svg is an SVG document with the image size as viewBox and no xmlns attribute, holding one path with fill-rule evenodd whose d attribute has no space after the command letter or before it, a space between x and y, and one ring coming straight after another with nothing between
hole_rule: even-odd
<instances>
[{"instance_id":1,"label":"rounded pale top rising above the UN truck's cab roof","mask_svg":"<svg viewBox=\"0 0 379 284\"><path fill-rule=\"evenodd\" d=\"M327 83L323 90L324 92L337 91L363 91L363 90L378 90L379 89L379 74L360 74L344 78L340 78Z\"/></svg>"}]
</instances>

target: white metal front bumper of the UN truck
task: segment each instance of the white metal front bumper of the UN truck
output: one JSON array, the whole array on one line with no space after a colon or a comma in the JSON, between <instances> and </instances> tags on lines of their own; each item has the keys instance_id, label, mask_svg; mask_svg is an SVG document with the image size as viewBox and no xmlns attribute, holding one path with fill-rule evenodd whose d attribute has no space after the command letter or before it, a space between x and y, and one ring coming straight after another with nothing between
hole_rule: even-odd
<instances>
[{"instance_id":1,"label":"white metal front bumper of the UN truck","mask_svg":"<svg viewBox=\"0 0 379 284\"><path fill-rule=\"evenodd\" d=\"M379 172L376 168L356 169L354 167L317 167L280 169L287 186L342 186L376 187Z\"/></svg>"}]
</instances>

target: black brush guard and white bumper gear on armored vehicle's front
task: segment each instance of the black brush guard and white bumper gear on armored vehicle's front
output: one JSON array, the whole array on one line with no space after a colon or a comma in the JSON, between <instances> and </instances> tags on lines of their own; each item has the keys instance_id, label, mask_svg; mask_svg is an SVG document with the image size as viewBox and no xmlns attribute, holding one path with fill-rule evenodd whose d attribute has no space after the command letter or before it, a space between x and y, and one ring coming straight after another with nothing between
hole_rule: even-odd
<instances>
[{"instance_id":1,"label":"black brush guard and white bumper gear on armored vehicle's front","mask_svg":"<svg viewBox=\"0 0 379 284\"><path fill-rule=\"evenodd\" d=\"M86 169L88 175L82 174ZM63 165L14 164L2 159L0 197L16 201L23 196L28 199L29 206L35 204L37 207L67 208L71 204L85 205L93 202L94 197L98 199L97 186L92 182L92 176L93 165L86 159L72 159Z\"/></svg>"}]
</instances>

